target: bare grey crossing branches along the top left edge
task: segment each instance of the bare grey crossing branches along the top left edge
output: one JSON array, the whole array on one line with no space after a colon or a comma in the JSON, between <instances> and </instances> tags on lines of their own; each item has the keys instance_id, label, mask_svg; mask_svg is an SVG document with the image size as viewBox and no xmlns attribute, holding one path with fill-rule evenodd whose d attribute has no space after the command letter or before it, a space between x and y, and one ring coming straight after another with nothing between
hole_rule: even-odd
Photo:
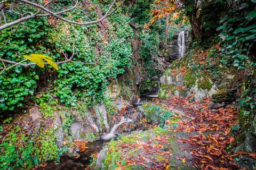
<instances>
[{"instance_id":1,"label":"bare grey crossing branches along the top left edge","mask_svg":"<svg viewBox=\"0 0 256 170\"><path fill-rule=\"evenodd\" d=\"M39 10L36 12L36 13L31 13L30 15L28 16L23 16L22 18L18 19L18 20L15 20L15 21L12 21L12 22L9 22L9 23L6 23L2 26L0 26L0 31L3 30L3 29L6 29L6 28L9 28L9 27L12 27L13 25L15 24L18 24L20 22L23 22L23 21L27 21L29 19L32 19L32 18L36 18L36 17L45 17L45 16L54 16L55 18L58 18L62 21L65 21L65 22L68 22L68 23L71 23L71 24L77 24L77 25L88 25L88 24L93 24L93 23L98 23L98 22L101 22L102 20L106 19L109 15L111 15L115 10L116 8L121 5L121 3L114 8L114 10L111 11L111 9L113 8L113 6L115 5L116 3L116 0L114 0L111 5L109 6L107 12L105 13L105 15L102 16L102 18L98 19L98 20L94 20L94 21L88 21L88 22L76 22L76 21L73 21L73 20L69 20L69 19L66 19L66 18L63 18L62 16L60 16L60 14L62 13L65 13L67 11L71 11L73 10L74 8L77 7L77 4L78 4L78 1L75 0L75 5L71 8L68 8L67 10L63 10L63 11L60 11L60 12L57 12L57 13L54 13L52 12L51 10L49 10L48 8L46 8L47 5L39 5L39 4L36 4L34 2L30 2L30 1L27 1L27 0L18 0L19 2L21 3L24 3L24 4L28 4L28 5L31 5L31 6L34 6L34 7L37 7L39 8ZM52 3L52 1L48 2L47 4L50 4ZM1 5L2 6L2 5ZM39 14L40 12L46 12L45 14Z\"/></svg>"}]
</instances>

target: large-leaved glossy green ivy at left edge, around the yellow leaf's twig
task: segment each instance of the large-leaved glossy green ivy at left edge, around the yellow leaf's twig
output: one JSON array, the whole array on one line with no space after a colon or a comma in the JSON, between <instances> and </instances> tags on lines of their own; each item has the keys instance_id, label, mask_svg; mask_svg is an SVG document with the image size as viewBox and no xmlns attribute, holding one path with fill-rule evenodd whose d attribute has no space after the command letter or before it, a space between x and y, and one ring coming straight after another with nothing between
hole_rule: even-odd
<instances>
[{"instance_id":1,"label":"large-leaved glossy green ivy at left edge, around the yellow leaf's twig","mask_svg":"<svg viewBox=\"0 0 256 170\"><path fill-rule=\"evenodd\" d=\"M7 16L7 19L13 16ZM22 22L15 32L4 29L0 34L0 58L19 63L20 56L30 53L44 53L44 39L51 27L45 19ZM2 62L0 67L2 67ZM11 65L6 65L10 67ZM33 96L40 72L15 66L0 76L0 113L13 111L23 105L27 96Z\"/></svg>"}]
</instances>

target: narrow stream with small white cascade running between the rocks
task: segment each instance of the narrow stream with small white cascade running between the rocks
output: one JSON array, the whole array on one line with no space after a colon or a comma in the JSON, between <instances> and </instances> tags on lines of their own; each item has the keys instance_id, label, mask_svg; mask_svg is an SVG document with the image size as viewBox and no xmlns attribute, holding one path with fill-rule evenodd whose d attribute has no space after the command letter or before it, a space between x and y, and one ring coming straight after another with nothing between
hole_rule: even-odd
<instances>
[{"instance_id":1,"label":"narrow stream with small white cascade running between the rocks","mask_svg":"<svg viewBox=\"0 0 256 170\"><path fill-rule=\"evenodd\" d=\"M153 97L155 96L143 96L142 98L137 99L137 101L133 105L130 105L129 107L127 107L126 109L127 112L124 116L121 117L121 120L119 121L119 123L114 124L109 133L102 134L101 139L93 142L87 142L86 147L89 147L89 148L83 152L78 152L79 154L78 158L63 156L60 158L60 163L49 162L45 167L37 167L36 169L37 170L85 169L91 163L91 160L92 160L91 155L99 153L100 150L103 148L103 146L105 146L106 143L110 141L112 138L117 139L118 133L126 135L134 130L143 131L147 129L147 125L145 125L145 122L143 122L142 124L139 123L138 119L142 120L143 116L141 116L140 111L137 111L137 108L143 105L143 103L147 103L153 100ZM134 114L136 114L135 115L136 121L132 120L132 118L130 117L131 115L134 115ZM132 125L130 126L130 124ZM120 130L118 129L119 126L122 127L120 128Z\"/></svg>"}]
</instances>

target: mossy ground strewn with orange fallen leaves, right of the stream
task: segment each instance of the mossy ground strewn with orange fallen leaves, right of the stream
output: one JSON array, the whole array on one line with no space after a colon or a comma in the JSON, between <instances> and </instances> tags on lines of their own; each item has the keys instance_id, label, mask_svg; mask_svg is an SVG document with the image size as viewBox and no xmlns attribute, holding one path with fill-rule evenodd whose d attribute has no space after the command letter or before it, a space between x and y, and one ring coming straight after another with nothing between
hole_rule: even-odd
<instances>
[{"instance_id":1,"label":"mossy ground strewn with orange fallen leaves, right of the stream","mask_svg":"<svg viewBox=\"0 0 256 170\"><path fill-rule=\"evenodd\" d=\"M238 155L255 158L231 150L239 145L233 137L239 132L231 130L237 125L237 108L210 109L209 103L209 98L196 103L179 97L151 101L175 115L165 121L165 131L153 127L133 133L112 150L109 146L108 154L122 153L120 160L125 164L117 163L117 169L239 169L233 161Z\"/></svg>"}]
</instances>

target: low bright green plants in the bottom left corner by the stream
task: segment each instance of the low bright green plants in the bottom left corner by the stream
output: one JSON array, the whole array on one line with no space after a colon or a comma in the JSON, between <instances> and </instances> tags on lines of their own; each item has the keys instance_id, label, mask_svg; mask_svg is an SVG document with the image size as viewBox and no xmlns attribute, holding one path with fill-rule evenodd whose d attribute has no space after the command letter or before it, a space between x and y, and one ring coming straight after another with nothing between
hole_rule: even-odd
<instances>
[{"instance_id":1,"label":"low bright green plants in the bottom left corner by the stream","mask_svg":"<svg viewBox=\"0 0 256 170\"><path fill-rule=\"evenodd\" d=\"M1 169L32 169L49 160L59 160L53 129L41 129L42 134L28 134L15 126L0 143ZM31 138L32 136L32 138Z\"/></svg>"}]
</instances>

